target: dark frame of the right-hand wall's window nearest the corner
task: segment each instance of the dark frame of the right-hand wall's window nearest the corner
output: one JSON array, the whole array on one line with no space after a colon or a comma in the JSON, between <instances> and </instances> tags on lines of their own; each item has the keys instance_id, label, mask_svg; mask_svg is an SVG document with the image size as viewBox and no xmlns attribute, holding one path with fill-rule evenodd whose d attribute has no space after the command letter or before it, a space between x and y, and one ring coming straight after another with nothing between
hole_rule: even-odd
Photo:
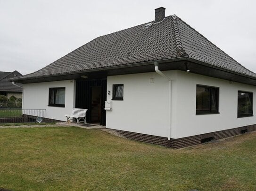
<instances>
[{"instance_id":1,"label":"dark frame of the right-hand wall's window nearest the corner","mask_svg":"<svg viewBox=\"0 0 256 191\"><path fill-rule=\"evenodd\" d=\"M198 87L203 87L203 88L209 88L210 93L209 93L209 109L208 110L198 110L197 109L197 91L196 91L196 115L206 115L206 114L220 114L219 112L219 87L214 87L214 86L208 86L208 85L201 85L197 84L196 88ZM214 92L213 89L215 89L215 109L212 109L212 93Z\"/></svg>"}]
</instances>

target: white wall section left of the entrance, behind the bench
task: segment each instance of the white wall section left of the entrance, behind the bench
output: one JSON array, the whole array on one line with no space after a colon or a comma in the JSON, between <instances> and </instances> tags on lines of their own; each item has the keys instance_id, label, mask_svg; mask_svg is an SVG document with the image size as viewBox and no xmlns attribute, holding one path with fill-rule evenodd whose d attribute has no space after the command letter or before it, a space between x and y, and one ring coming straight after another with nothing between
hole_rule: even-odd
<instances>
[{"instance_id":1,"label":"white wall section left of the entrance, behind the bench","mask_svg":"<svg viewBox=\"0 0 256 191\"><path fill-rule=\"evenodd\" d=\"M65 87L65 107L51 107L49 88ZM23 109L46 109L44 117L66 121L75 105L75 80L43 82L23 85Z\"/></svg>"}]
</instances>

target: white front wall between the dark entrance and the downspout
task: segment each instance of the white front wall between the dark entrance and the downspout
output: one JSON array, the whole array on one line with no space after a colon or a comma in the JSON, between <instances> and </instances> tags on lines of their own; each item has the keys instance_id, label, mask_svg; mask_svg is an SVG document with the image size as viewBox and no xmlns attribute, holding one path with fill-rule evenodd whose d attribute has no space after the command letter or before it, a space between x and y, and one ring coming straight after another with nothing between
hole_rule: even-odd
<instances>
[{"instance_id":1,"label":"white front wall between the dark entrance and the downspout","mask_svg":"<svg viewBox=\"0 0 256 191\"><path fill-rule=\"evenodd\" d=\"M176 71L167 71L172 76L176 89ZM154 83L149 83L150 78ZM112 111L107 111L106 127L149 135L166 137L169 127L167 79L156 72L107 77L107 101L112 99L113 84L124 84L124 100L113 100ZM176 100L176 91L172 92ZM173 120L175 121L175 120Z\"/></svg>"}]
</instances>

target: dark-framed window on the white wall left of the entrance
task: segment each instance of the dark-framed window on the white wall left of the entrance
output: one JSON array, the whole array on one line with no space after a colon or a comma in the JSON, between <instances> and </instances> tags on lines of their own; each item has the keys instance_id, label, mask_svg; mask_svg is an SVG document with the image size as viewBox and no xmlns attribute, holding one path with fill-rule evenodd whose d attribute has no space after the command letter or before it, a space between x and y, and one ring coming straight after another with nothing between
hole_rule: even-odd
<instances>
[{"instance_id":1,"label":"dark-framed window on the white wall left of the entrance","mask_svg":"<svg viewBox=\"0 0 256 191\"><path fill-rule=\"evenodd\" d=\"M49 105L65 107L65 87L49 88Z\"/></svg>"}]
</instances>

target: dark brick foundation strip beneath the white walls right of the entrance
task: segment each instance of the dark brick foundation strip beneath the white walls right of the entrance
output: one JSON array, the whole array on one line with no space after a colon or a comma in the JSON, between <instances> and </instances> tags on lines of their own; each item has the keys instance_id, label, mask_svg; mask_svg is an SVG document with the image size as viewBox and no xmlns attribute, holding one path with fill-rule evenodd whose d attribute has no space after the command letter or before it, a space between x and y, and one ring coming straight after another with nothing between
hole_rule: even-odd
<instances>
[{"instance_id":1,"label":"dark brick foundation strip beneath the white walls right of the entrance","mask_svg":"<svg viewBox=\"0 0 256 191\"><path fill-rule=\"evenodd\" d=\"M201 140L203 138L213 138L213 140L217 140L217 139L222 139L222 138L228 138L228 137L231 137L234 135L240 135L241 130L247 130L248 132L255 131L256 124L233 128L233 129L229 129L229 130L220 130L220 131L215 131L212 133L195 135L195 136L190 136L190 137L185 137L185 138L177 138L177 139L171 138L170 141L168 141L168 139L165 137L158 137L158 136L153 136L153 135L134 133L134 132L124 131L124 130L116 130L116 131L118 133L120 133L121 135L123 135L124 137L132 139L132 140L155 144L155 145L162 145L165 147L182 148L182 147L186 147L186 146L201 144Z\"/></svg>"}]
</instances>

